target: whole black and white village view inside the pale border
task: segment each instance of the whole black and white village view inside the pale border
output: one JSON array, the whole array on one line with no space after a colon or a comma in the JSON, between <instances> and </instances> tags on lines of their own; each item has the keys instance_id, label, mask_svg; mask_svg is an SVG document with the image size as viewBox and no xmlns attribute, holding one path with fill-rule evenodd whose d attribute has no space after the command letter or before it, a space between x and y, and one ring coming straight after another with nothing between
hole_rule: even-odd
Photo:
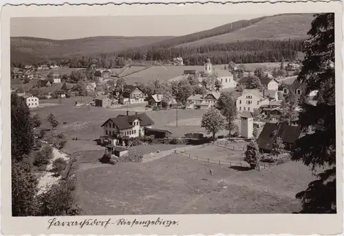
<instances>
[{"instance_id":1,"label":"whole black and white village view inside the pale border","mask_svg":"<svg viewBox=\"0 0 344 236\"><path fill-rule=\"evenodd\" d=\"M10 19L11 216L341 213L337 13L279 12Z\"/></svg>"}]
</instances>

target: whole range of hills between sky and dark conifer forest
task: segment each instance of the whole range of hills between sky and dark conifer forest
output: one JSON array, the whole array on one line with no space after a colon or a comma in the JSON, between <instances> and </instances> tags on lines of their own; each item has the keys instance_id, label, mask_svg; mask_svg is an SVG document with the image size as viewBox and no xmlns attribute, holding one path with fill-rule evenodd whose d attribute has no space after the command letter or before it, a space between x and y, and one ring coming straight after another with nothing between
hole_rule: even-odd
<instances>
[{"instance_id":1,"label":"whole range of hills between sky and dark conifer forest","mask_svg":"<svg viewBox=\"0 0 344 236\"><path fill-rule=\"evenodd\" d=\"M312 23L312 14L278 14L271 17L235 21L211 30L204 30L184 36L98 36L84 39L52 40L32 37L11 38L11 61L36 63L44 58L52 60L63 58L80 58L81 56L122 56L151 55L153 50L177 49L179 47L200 48L205 45L241 43L244 41L286 41L303 40ZM230 47L237 48L235 45ZM208 49L207 53L219 51ZM220 50L227 52L228 50ZM140 52L140 53L138 53ZM179 52L177 54L180 54ZM232 52L233 54L233 52ZM180 55L185 56L185 55ZM210 54L204 56L211 56ZM142 58L132 58L133 60ZM160 58L155 58L155 60ZM165 58L166 60L169 58ZM254 62L254 61L252 61Z\"/></svg>"}]
</instances>

